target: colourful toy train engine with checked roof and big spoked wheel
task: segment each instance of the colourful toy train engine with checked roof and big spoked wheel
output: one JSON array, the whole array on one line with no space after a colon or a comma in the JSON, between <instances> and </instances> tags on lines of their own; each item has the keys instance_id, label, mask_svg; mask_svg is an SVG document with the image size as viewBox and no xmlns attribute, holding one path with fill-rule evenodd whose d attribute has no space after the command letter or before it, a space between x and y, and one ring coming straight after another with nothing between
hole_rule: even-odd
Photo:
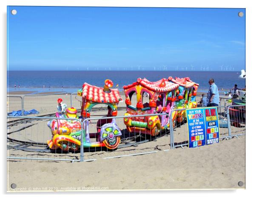
<instances>
[{"instance_id":1,"label":"colourful toy train engine with checked roof and big spoked wheel","mask_svg":"<svg viewBox=\"0 0 256 198\"><path fill-rule=\"evenodd\" d=\"M51 150L61 149L63 151L77 151L81 146L81 133L83 134L83 147L106 147L116 149L120 143L121 130L116 124L115 119L99 119L97 122L97 133L89 133L90 111L98 104L108 106L108 115L117 116L117 105L122 100L117 89L110 89L113 86L111 80L105 80L104 88L99 88L88 83L84 83L82 89L77 94L82 96L81 116L77 115L74 107L66 108L62 99L58 99L58 112L56 118L48 122L51 128L52 139L48 140ZM70 118L70 119L68 119ZM83 123L83 127L81 127ZM91 141L96 138L97 141Z\"/></svg>"}]
</instances>

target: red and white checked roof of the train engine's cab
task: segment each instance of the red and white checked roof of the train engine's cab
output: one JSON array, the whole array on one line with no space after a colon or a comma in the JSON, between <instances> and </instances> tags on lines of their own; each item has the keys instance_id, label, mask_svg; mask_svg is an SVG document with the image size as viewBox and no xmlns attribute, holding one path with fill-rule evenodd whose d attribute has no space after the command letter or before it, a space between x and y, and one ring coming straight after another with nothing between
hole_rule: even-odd
<instances>
[{"instance_id":1,"label":"red and white checked roof of the train engine's cab","mask_svg":"<svg viewBox=\"0 0 256 198\"><path fill-rule=\"evenodd\" d=\"M119 95L118 89L109 89L109 93L105 93L103 88L84 83L82 85L82 97L85 97L86 100L91 100L93 102L102 102L102 103L118 103L122 100Z\"/></svg>"}]
</instances>

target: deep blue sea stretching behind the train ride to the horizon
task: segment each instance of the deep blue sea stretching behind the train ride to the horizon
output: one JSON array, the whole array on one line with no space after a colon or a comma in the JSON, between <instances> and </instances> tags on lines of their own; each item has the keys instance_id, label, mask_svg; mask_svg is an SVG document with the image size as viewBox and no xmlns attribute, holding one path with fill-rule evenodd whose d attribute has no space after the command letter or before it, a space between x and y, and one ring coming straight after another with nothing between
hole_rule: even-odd
<instances>
[{"instance_id":1,"label":"deep blue sea stretching behind the train ride to the horizon","mask_svg":"<svg viewBox=\"0 0 256 198\"><path fill-rule=\"evenodd\" d=\"M239 71L7 71L7 92L74 93L82 88L84 82L103 87L105 79L111 79L114 82L113 88L122 91L124 85L130 85L138 78L155 82L172 76L189 77L193 82L199 83L198 91L205 93L209 89L209 79L213 78L219 92L224 93L235 84L238 88L245 88L245 79L240 79L240 74Z\"/></svg>"}]
</instances>

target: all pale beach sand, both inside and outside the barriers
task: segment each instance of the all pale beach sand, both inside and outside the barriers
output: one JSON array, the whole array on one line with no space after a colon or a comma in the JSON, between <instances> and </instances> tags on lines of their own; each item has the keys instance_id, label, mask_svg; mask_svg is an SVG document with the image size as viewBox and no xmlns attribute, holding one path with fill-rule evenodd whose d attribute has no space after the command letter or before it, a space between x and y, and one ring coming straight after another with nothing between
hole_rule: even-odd
<instances>
[{"instance_id":1,"label":"all pale beach sand, both inside and outside the barriers","mask_svg":"<svg viewBox=\"0 0 256 198\"><path fill-rule=\"evenodd\" d=\"M37 107L43 114L54 113L57 98L53 96L31 96L26 103L28 107ZM64 101L69 96L62 96ZM74 96L75 97L75 96ZM124 99L124 97L123 97ZM79 106L80 102L76 101ZM42 107L43 106L43 107ZM106 110L98 106L98 110L91 115L105 115ZM125 113L124 103L120 103L118 115ZM10 138L20 141L46 142L51 139L51 132L46 125L47 120L34 121L10 127ZM125 128L122 119L117 119L118 126ZM31 125L26 129L24 126ZM183 124L174 130L176 144L187 141L187 126ZM241 132L242 130L242 132ZM95 122L91 124L90 133L96 131ZM237 134L245 133L243 128L233 127ZM245 136L223 139L219 143L203 147L170 148L168 131L151 141L138 144L137 147L118 148L117 150L85 151L86 159L90 162L42 161L42 160L7 160L8 182L7 190L12 191L10 185L17 184L20 191L42 190L152 190L152 189L238 189L239 181L245 183ZM165 134L166 133L166 134ZM235 134L235 133L234 133ZM226 128L220 129L220 136L228 135ZM125 138L132 134L125 133ZM138 141L145 140L140 138ZM129 142L123 140L122 144ZM9 146L14 146L12 142ZM31 146L30 148L36 148ZM44 148L44 147L37 147ZM32 158L60 158L79 159L80 153L40 153L28 152L9 148L8 156L25 156ZM138 156L109 158L121 155L156 152Z\"/></svg>"}]
</instances>

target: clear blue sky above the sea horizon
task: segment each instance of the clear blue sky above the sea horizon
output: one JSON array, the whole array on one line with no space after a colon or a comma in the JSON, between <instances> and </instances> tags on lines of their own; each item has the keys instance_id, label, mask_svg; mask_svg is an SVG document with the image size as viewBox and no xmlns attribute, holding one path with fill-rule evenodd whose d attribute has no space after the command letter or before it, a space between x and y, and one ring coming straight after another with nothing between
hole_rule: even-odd
<instances>
[{"instance_id":1,"label":"clear blue sky above the sea horizon","mask_svg":"<svg viewBox=\"0 0 256 198\"><path fill-rule=\"evenodd\" d=\"M9 6L7 12L8 70L245 69L243 8Z\"/></svg>"}]
</instances>

